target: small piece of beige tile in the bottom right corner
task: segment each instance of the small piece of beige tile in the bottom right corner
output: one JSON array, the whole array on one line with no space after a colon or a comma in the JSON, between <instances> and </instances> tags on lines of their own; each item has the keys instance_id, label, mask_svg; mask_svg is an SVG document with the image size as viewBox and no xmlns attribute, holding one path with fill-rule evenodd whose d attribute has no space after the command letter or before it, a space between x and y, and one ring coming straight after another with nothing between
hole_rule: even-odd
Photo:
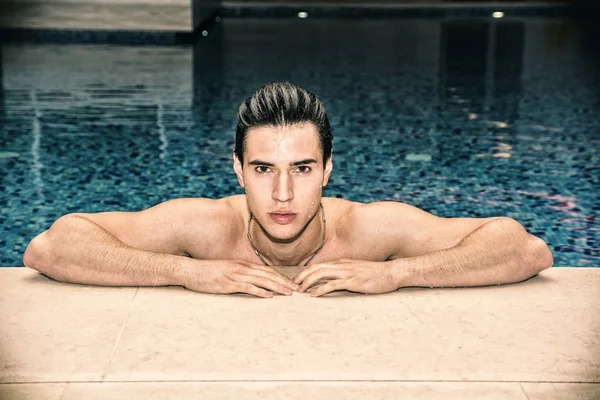
<instances>
[{"instance_id":1,"label":"small piece of beige tile in the bottom right corner","mask_svg":"<svg viewBox=\"0 0 600 400\"><path fill-rule=\"evenodd\" d=\"M600 383L521 383L529 400L598 400Z\"/></svg>"}]
</instances>

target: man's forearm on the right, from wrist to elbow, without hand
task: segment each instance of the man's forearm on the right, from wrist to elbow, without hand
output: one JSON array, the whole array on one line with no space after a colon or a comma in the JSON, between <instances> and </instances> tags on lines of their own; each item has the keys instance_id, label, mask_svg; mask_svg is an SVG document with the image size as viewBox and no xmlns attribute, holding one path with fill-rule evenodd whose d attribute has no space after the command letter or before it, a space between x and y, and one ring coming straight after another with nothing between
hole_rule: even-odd
<instances>
[{"instance_id":1,"label":"man's forearm on the right, from wrist to elbow, without hand","mask_svg":"<svg viewBox=\"0 0 600 400\"><path fill-rule=\"evenodd\" d=\"M548 246L508 218L480 226L452 248L389 261L399 288L520 282L551 267L552 262Z\"/></svg>"}]
</instances>

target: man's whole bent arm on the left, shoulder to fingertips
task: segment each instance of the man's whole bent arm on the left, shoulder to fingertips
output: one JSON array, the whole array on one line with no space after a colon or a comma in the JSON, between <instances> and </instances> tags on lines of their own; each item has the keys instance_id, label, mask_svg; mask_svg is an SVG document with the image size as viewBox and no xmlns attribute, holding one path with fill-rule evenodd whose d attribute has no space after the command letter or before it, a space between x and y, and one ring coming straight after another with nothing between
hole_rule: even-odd
<instances>
[{"instance_id":1,"label":"man's whole bent arm on the left, shoulder to fingertips","mask_svg":"<svg viewBox=\"0 0 600 400\"><path fill-rule=\"evenodd\" d=\"M55 280L107 286L181 285L203 293L273 297L296 289L271 267L197 260L231 235L226 200L173 200L138 213L72 214L34 238L24 264ZM228 227L229 226L229 227ZM200 230L198 232L198 230Z\"/></svg>"}]
</instances>

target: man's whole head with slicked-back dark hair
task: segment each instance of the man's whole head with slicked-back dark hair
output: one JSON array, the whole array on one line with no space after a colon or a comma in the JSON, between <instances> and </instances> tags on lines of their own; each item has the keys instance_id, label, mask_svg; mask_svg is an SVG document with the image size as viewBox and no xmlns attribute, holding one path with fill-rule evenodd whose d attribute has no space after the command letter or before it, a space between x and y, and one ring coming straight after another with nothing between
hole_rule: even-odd
<instances>
[{"instance_id":1,"label":"man's whole head with slicked-back dark hair","mask_svg":"<svg viewBox=\"0 0 600 400\"><path fill-rule=\"evenodd\" d=\"M331 141L323 103L299 86L271 83L240 106L234 169L271 240L294 241L317 215Z\"/></svg>"}]
</instances>

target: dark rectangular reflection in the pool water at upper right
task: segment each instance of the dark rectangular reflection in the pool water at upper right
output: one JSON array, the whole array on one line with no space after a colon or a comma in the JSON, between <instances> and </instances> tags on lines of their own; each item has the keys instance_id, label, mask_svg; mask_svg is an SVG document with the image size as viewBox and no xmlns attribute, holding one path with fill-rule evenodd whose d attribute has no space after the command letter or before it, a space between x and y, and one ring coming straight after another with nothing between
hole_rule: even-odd
<instances>
[{"instance_id":1,"label":"dark rectangular reflection in the pool water at upper right","mask_svg":"<svg viewBox=\"0 0 600 400\"><path fill-rule=\"evenodd\" d=\"M478 156L510 158L520 118L524 23L447 21L442 23L441 36L441 117L453 126L449 140L473 144L494 136L497 142L481 147ZM456 160L469 154L472 149L465 147Z\"/></svg>"}]
</instances>

